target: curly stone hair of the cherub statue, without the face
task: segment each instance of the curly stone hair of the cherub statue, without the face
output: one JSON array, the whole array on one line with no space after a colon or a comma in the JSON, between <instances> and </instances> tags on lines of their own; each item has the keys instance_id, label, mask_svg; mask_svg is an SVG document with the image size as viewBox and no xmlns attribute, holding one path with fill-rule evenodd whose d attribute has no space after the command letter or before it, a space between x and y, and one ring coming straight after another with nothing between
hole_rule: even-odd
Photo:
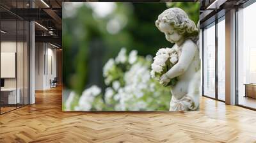
<instances>
[{"instance_id":1,"label":"curly stone hair of the cherub statue, without the face","mask_svg":"<svg viewBox=\"0 0 256 143\"><path fill-rule=\"evenodd\" d=\"M183 36L198 36L195 22L189 19L187 13L180 8L168 8L158 16L156 27L159 29L160 22L166 22Z\"/></svg>"}]
</instances>

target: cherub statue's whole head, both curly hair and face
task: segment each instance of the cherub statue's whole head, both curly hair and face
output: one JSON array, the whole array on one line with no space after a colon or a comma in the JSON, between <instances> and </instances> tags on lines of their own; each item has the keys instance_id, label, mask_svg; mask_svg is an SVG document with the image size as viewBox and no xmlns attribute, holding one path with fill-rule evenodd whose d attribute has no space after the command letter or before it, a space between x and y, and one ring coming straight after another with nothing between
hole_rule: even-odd
<instances>
[{"instance_id":1,"label":"cherub statue's whole head, both curly hair and face","mask_svg":"<svg viewBox=\"0 0 256 143\"><path fill-rule=\"evenodd\" d=\"M171 43L198 35L195 22L189 19L187 13L180 8L164 10L156 20L156 27L165 34L166 40Z\"/></svg>"}]
</instances>

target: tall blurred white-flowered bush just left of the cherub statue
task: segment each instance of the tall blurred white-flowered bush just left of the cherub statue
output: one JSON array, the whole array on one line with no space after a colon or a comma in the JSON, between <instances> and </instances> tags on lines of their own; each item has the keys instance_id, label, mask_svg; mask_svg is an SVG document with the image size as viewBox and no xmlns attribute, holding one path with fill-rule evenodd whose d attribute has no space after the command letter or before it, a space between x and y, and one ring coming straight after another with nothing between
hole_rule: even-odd
<instances>
[{"instance_id":1,"label":"tall blurred white-flowered bush just left of the cherub statue","mask_svg":"<svg viewBox=\"0 0 256 143\"><path fill-rule=\"evenodd\" d=\"M152 56L138 56L137 50L132 50L127 56L124 51L122 49L116 59L127 61L120 64L120 60L115 60L115 72L104 76L106 81L109 77L116 77L116 74L123 75L111 80L105 90L106 110L168 110L169 89L150 78Z\"/></svg>"}]
</instances>

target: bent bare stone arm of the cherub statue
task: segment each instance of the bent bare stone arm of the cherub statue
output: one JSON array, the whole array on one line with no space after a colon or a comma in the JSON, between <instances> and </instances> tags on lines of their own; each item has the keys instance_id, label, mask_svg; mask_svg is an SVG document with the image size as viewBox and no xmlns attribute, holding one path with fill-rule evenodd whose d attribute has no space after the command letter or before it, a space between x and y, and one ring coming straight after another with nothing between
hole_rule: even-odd
<instances>
[{"instance_id":1,"label":"bent bare stone arm of the cherub statue","mask_svg":"<svg viewBox=\"0 0 256 143\"><path fill-rule=\"evenodd\" d=\"M175 64L168 72L166 72L166 77L172 79L174 77L178 77L179 75L184 74L193 61L193 57L195 56L196 45L193 41L187 40L185 41L182 52L179 57L179 61Z\"/></svg>"}]
</instances>

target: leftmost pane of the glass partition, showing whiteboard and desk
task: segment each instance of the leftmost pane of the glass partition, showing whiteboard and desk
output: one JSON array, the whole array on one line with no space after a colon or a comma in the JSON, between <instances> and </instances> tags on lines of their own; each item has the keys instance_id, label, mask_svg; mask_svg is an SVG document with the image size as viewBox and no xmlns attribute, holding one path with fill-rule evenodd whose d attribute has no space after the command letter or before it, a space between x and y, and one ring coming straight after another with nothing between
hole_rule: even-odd
<instances>
[{"instance_id":1,"label":"leftmost pane of the glass partition, showing whiteboard and desk","mask_svg":"<svg viewBox=\"0 0 256 143\"><path fill-rule=\"evenodd\" d=\"M1 113L4 113L16 109L20 103L20 96L17 96L17 21L2 20L1 31Z\"/></svg>"}]
</instances>

